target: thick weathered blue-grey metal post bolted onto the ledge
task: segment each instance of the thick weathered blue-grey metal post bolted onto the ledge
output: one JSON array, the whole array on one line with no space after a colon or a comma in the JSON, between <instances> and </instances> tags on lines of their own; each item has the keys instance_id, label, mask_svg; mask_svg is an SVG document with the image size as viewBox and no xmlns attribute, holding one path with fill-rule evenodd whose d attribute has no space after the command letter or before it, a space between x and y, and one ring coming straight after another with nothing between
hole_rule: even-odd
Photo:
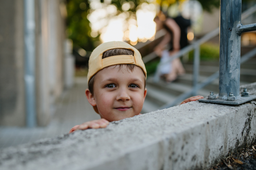
<instances>
[{"instance_id":1,"label":"thick weathered blue-grey metal post bolted onto the ledge","mask_svg":"<svg viewBox=\"0 0 256 170\"><path fill-rule=\"evenodd\" d=\"M241 23L241 0L221 0L219 97L227 99L233 92L236 99L240 88L241 37L236 27Z\"/></svg>"}]
</instances>

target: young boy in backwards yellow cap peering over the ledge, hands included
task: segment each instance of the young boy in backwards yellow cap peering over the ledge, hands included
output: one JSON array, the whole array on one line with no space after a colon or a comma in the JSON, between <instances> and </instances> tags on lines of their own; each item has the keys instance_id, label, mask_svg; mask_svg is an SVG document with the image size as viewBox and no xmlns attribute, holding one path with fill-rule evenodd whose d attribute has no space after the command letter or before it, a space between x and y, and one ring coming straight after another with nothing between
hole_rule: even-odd
<instances>
[{"instance_id":1,"label":"young boy in backwards yellow cap peering over the ledge, hands included","mask_svg":"<svg viewBox=\"0 0 256 170\"><path fill-rule=\"evenodd\" d=\"M101 119L70 130L104 128L111 121L139 115L147 94L147 72L140 52L128 43L112 41L96 47L90 55L85 95ZM196 101L194 96L181 104Z\"/></svg>"}]
</instances>

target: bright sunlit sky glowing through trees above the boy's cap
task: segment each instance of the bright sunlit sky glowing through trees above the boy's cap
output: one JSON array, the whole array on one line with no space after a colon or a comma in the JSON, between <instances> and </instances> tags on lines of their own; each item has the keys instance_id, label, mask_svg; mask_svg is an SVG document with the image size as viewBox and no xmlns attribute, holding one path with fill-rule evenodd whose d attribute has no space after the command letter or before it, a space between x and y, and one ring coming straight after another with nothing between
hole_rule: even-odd
<instances>
[{"instance_id":1,"label":"bright sunlit sky glowing through trees above the boy's cap","mask_svg":"<svg viewBox=\"0 0 256 170\"><path fill-rule=\"evenodd\" d=\"M116 6L110 3L111 0L104 0L104 3L100 0L90 0L92 12L87 18L90 21L92 37L100 34L103 43L130 40L132 45L138 41L154 39L156 6L153 3L142 3L137 7L136 14L128 11L135 8L132 1L122 4L124 12L118 11Z\"/></svg>"}]
</instances>

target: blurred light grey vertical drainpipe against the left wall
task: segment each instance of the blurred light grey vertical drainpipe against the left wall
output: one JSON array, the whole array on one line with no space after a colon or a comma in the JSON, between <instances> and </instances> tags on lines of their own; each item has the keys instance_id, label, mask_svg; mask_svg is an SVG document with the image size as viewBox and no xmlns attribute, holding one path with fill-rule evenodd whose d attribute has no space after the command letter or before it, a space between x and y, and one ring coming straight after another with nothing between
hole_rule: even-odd
<instances>
[{"instance_id":1,"label":"blurred light grey vertical drainpipe against the left wall","mask_svg":"<svg viewBox=\"0 0 256 170\"><path fill-rule=\"evenodd\" d=\"M24 0L26 125L36 126L35 111L35 1Z\"/></svg>"}]
</instances>

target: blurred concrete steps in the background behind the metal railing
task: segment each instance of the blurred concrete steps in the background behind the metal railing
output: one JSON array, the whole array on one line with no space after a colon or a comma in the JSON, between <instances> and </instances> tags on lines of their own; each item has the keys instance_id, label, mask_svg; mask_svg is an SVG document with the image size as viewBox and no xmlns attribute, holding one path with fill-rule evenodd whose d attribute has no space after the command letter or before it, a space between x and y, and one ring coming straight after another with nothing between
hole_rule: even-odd
<instances>
[{"instance_id":1,"label":"blurred concrete steps in the background behind the metal railing","mask_svg":"<svg viewBox=\"0 0 256 170\"><path fill-rule=\"evenodd\" d=\"M166 83L160 80L158 83L153 81L153 76L148 76L146 88L148 90L143 109L141 113L148 113L160 109L163 105L177 100L177 97L184 92L192 89L193 80L193 63L183 64L186 69L186 74L179 76L176 81ZM201 62L199 68L199 83L210 75L218 71L218 62ZM240 85L256 82L256 57L251 58L249 61L241 64ZM218 78L212 81L211 84L205 86L203 89L198 90L197 95L206 97L209 92L218 94ZM177 101L179 105L181 101Z\"/></svg>"}]
</instances>

